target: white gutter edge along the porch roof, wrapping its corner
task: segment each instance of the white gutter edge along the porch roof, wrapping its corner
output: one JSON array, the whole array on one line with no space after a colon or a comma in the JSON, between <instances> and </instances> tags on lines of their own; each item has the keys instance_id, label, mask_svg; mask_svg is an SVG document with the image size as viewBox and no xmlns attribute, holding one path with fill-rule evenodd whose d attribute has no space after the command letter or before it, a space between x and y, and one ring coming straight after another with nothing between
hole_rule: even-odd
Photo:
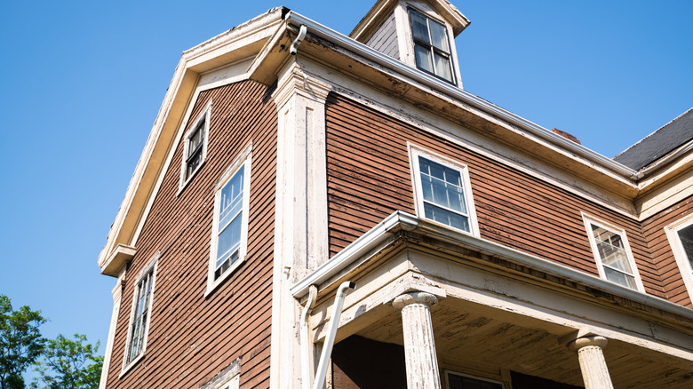
<instances>
[{"instance_id":1,"label":"white gutter edge along the porch roof, wrapping its corner","mask_svg":"<svg viewBox=\"0 0 693 389\"><path fill-rule=\"evenodd\" d=\"M520 266L526 266L546 274L553 274L559 278L569 279L588 288L601 290L611 295L639 303L642 306L649 306L665 313L693 321L693 310L685 306L674 304L664 298L657 298L644 292L622 287L612 282L605 282L599 277L580 272L572 267L539 258L470 234L463 234L451 228L438 226L399 210L378 223L377 226L374 226L370 231L363 234L353 243L346 246L344 250L341 250L337 255L323 264L323 266L318 267L315 272L308 274L303 280L294 284L291 287L291 293L294 298L305 297L310 285L319 285L329 280L333 275L339 274L339 272L346 269L350 264L362 258L362 255L378 246L378 244L386 242L387 239L393 236L391 231L397 226L401 226L402 229L406 231L416 230L418 234L434 236L438 239L458 244L468 250L473 250L491 257L504 258Z\"/></svg>"}]
</instances>

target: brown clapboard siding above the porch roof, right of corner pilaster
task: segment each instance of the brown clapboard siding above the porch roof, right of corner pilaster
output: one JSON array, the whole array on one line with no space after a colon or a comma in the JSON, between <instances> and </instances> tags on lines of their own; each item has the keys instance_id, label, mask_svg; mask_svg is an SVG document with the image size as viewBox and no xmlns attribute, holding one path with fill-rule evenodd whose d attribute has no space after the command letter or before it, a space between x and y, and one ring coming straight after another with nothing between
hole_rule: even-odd
<instances>
[{"instance_id":1,"label":"brown clapboard siding above the porch roof, right of corner pilaster","mask_svg":"<svg viewBox=\"0 0 693 389\"><path fill-rule=\"evenodd\" d=\"M645 290L664 297L637 221L342 95L325 110L331 256L395 210L415 212L410 142L469 167L482 238L597 275L585 212L625 230Z\"/></svg>"}]
</instances>

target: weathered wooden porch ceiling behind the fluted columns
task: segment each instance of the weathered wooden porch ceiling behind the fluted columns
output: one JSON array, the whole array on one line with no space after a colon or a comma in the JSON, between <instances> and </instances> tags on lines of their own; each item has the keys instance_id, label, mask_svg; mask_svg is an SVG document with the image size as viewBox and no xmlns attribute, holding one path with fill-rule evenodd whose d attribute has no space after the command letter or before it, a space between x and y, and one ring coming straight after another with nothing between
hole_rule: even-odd
<instances>
[{"instance_id":1,"label":"weathered wooden porch ceiling behind the fluted columns","mask_svg":"<svg viewBox=\"0 0 693 389\"><path fill-rule=\"evenodd\" d=\"M356 335L402 345L402 317L394 308ZM577 353L559 338L562 326L532 322L490 306L445 298L432 307L435 347L442 369L508 369L569 385L582 386ZM570 330L570 329L569 329ZM616 388L689 388L693 361L609 340L604 349Z\"/></svg>"}]
</instances>

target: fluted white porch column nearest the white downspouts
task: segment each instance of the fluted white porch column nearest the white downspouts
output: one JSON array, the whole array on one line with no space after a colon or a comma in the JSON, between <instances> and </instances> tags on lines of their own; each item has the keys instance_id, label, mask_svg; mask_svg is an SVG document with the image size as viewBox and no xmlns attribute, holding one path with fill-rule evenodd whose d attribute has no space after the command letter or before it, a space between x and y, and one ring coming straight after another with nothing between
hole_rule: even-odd
<instances>
[{"instance_id":1,"label":"fluted white porch column nearest the white downspouts","mask_svg":"<svg viewBox=\"0 0 693 389\"><path fill-rule=\"evenodd\" d=\"M410 292L394 298L392 305L402 311L404 360L409 389L441 389L431 309L438 298L426 292Z\"/></svg>"}]
</instances>

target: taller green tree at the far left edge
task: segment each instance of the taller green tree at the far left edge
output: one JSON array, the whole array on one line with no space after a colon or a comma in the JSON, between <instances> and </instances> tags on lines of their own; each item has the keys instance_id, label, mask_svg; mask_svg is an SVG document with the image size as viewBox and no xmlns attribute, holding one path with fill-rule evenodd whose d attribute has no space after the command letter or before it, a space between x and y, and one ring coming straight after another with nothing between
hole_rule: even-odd
<instances>
[{"instance_id":1,"label":"taller green tree at the far left edge","mask_svg":"<svg viewBox=\"0 0 693 389\"><path fill-rule=\"evenodd\" d=\"M22 373L44 349L38 329L44 322L40 311L28 306L15 311L10 298L0 295L0 389L24 388Z\"/></svg>"}]
</instances>

